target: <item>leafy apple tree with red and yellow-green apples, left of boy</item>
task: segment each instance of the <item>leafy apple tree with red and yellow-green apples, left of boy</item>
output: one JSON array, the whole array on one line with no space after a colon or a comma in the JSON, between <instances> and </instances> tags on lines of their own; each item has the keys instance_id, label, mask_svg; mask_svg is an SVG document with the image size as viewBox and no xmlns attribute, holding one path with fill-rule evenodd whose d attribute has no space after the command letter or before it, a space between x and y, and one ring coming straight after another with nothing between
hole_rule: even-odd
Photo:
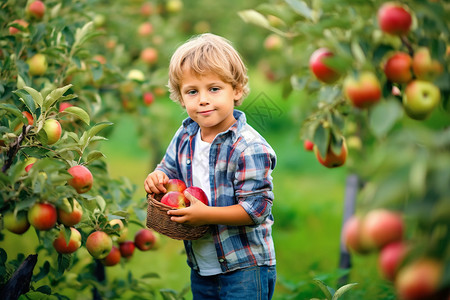
<instances>
[{"instance_id":1,"label":"leafy apple tree with red and yellow-green apples, left of boy","mask_svg":"<svg viewBox=\"0 0 450 300\"><path fill-rule=\"evenodd\" d=\"M93 45L107 34L102 19L86 13L89 6L60 1L1 4L2 299L25 293L64 299L58 293L62 289L120 294L130 286L141 295L155 293L145 278L157 274L142 280L129 274L126 284L116 281L110 286L104 278L104 266L125 263L132 254L120 246L128 223L144 227L146 203L133 200L136 187L127 178L111 178L100 145L112 131L111 121L129 112L115 98L117 91L143 96L147 80L142 76L148 72L104 61ZM124 52L115 57L121 55L125 57ZM123 91L125 83L132 88ZM157 85L160 81L153 83ZM146 101L137 107L153 99ZM38 238L36 254L8 256L5 239L31 230ZM103 233L102 238L90 238L96 232ZM151 237L156 243L157 237L146 235L139 247ZM87 252L80 253L80 248ZM113 249L120 249L119 256ZM68 272L73 268L81 270L78 275Z\"/></svg>"}]
</instances>

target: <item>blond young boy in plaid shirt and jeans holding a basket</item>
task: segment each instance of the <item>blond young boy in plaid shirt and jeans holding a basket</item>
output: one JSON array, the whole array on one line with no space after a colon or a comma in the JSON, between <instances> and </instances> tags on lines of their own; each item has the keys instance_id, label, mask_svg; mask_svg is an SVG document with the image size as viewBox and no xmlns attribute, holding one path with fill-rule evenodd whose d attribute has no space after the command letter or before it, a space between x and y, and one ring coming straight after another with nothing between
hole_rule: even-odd
<instances>
[{"instance_id":1,"label":"blond young boy in plaid shirt and jeans holding a basket","mask_svg":"<svg viewBox=\"0 0 450 300\"><path fill-rule=\"evenodd\" d=\"M173 54L168 86L189 117L144 185L164 193L177 178L208 196L209 206L194 200L168 212L174 222L211 225L204 237L184 241L194 299L271 299L276 156L234 109L249 92L246 67L229 41L202 34Z\"/></svg>"}]
</instances>

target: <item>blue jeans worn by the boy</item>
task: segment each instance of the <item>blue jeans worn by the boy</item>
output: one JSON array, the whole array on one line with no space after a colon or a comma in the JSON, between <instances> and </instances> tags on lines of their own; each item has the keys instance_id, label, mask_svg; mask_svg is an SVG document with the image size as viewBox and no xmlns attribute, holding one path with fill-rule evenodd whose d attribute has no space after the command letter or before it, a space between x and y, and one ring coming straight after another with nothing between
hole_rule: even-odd
<instances>
[{"instance_id":1,"label":"blue jeans worn by the boy","mask_svg":"<svg viewBox=\"0 0 450 300\"><path fill-rule=\"evenodd\" d=\"M212 276L201 276L191 270L191 290L194 300L269 300L276 277L275 266L249 267Z\"/></svg>"}]
</instances>

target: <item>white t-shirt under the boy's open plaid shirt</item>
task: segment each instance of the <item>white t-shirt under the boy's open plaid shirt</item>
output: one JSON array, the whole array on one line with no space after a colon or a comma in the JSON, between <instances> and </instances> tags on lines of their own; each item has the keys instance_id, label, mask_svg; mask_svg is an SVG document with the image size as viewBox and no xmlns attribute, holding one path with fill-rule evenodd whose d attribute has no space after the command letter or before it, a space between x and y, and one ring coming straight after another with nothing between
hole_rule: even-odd
<instances>
[{"instance_id":1,"label":"white t-shirt under the boy's open plaid shirt","mask_svg":"<svg viewBox=\"0 0 450 300\"><path fill-rule=\"evenodd\" d=\"M209 185L210 148L210 143L202 141L199 129L195 137L195 150L192 159L192 183L205 192L208 196L208 202L211 204L211 187ZM192 250L200 269L200 275L210 276L222 273L211 233L207 233L198 240L193 240Z\"/></svg>"}]
</instances>

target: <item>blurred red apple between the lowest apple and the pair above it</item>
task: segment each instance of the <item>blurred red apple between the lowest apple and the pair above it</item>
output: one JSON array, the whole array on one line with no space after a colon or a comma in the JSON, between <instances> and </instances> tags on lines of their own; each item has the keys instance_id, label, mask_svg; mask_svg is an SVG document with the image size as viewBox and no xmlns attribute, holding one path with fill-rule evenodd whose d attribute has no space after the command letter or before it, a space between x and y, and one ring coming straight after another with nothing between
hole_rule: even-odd
<instances>
[{"instance_id":1,"label":"blurred red apple between the lowest apple and the pair above it","mask_svg":"<svg viewBox=\"0 0 450 300\"><path fill-rule=\"evenodd\" d=\"M381 249L378 256L378 269L385 279L394 281L408 249L408 244L403 241L389 243Z\"/></svg>"}]
</instances>

